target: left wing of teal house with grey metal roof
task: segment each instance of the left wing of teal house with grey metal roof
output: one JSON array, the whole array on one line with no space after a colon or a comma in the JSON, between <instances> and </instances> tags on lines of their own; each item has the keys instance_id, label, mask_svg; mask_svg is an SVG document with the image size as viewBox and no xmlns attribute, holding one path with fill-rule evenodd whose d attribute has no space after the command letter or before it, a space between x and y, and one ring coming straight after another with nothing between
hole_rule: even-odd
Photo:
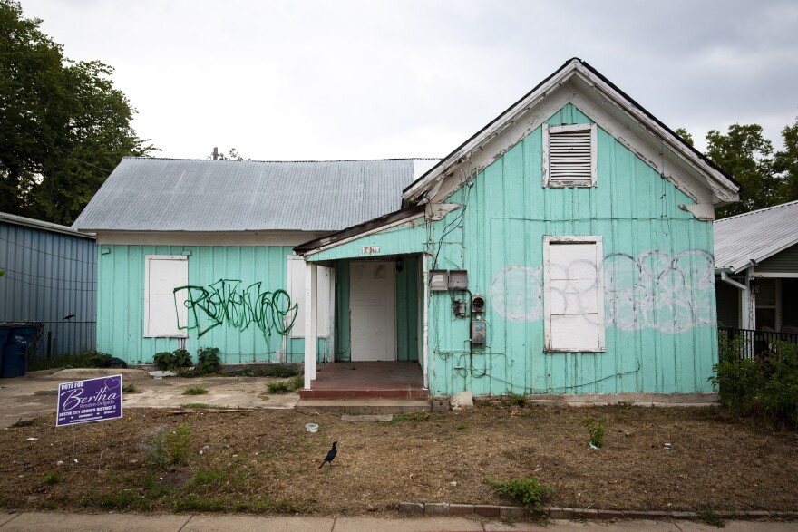
<instances>
[{"instance_id":1,"label":"left wing of teal house with grey metal roof","mask_svg":"<svg viewBox=\"0 0 798 532\"><path fill-rule=\"evenodd\" d=\"M399 208L436 161L122 160L73 224L97 235L97 349L128 363L201 347L222 363L302 361L305 267L292 248ZM331 274L320 360L336 349Z\"/></svg>"}]
</instances>

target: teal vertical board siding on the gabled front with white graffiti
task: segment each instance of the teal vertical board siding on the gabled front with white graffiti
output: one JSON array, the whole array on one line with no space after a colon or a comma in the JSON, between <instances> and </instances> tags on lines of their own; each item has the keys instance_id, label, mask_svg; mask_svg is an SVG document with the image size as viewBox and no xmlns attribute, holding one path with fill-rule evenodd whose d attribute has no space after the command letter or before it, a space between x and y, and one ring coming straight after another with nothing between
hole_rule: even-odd
<instances>
[{"instance_id":1,"label":"teal vertical board siding on the gabled front with white graffiti","mask_svg":"<svg viewBox=\"0 0 798 532\"><path fill-rule=\"evenodd\" d=\"M589 119L569 104L548 122ZM448 292L431 292L432 393L711 390L712 225L678 208L693 201L600 127L598 143L596 187L542 187L538 128L448 199L465 207L433 222L426 260L468 270L472 294L486 296L487 343L472 348L469 319L453 316ZM602 237L605 353L543 352L544 235Z\"/></svg>"}]
</instances>

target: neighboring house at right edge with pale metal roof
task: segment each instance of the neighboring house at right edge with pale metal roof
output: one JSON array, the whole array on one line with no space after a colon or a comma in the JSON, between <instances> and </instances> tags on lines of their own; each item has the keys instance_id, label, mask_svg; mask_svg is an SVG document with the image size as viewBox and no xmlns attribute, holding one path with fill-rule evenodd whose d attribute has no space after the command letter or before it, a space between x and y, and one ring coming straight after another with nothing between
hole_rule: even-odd
<instances>
[{"instance_id":1,"label":"neighboring house at right edge with pale metal roof","mask_svg":"<svg viewBox=\"0 0 798 532\"><path fill-rule=\"evenodd\" d=\"M798 201L714 227L718 322L750 332L757 351L780 337L768 333L798 341Z\"/></svg>"}]
</instances>

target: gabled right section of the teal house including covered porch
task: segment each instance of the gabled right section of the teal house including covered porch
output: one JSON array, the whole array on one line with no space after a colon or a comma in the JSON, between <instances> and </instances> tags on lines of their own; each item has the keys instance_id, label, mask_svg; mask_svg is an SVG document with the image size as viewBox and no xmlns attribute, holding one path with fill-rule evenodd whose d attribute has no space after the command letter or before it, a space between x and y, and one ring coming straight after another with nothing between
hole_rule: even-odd
<instances>
[{"instance_id":1,"label":"gabled right section of the teal house including covered porch","mask_svg":"<svg viewBox=\"0 0 798 532\"><path fill-rule=\"evenodd\" d=\"M335 361L417 360L433 395L709 392L712 220L738 189L573 59L406 187L400 210L296 248L307 334L326 326L312 280L334 272Z\"/></svg>"}]
</instances>

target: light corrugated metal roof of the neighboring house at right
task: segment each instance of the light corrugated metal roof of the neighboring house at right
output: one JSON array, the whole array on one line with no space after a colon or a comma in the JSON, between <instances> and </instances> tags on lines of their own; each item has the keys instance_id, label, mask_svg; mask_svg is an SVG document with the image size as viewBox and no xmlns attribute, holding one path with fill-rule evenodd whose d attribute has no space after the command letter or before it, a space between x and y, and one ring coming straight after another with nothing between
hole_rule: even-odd
<instances>
[{"instance_id":1,"label":"light corrugated metal roof of the neighboring house at right","mask_svg":"<svg viewBox=\"0 0 798 532\"><path fill-rule=\"evenodd\" d=\"M798 201L716 220L713 228L715 269L738 272L798 243Z\"/></svg>"}]
</instances>

